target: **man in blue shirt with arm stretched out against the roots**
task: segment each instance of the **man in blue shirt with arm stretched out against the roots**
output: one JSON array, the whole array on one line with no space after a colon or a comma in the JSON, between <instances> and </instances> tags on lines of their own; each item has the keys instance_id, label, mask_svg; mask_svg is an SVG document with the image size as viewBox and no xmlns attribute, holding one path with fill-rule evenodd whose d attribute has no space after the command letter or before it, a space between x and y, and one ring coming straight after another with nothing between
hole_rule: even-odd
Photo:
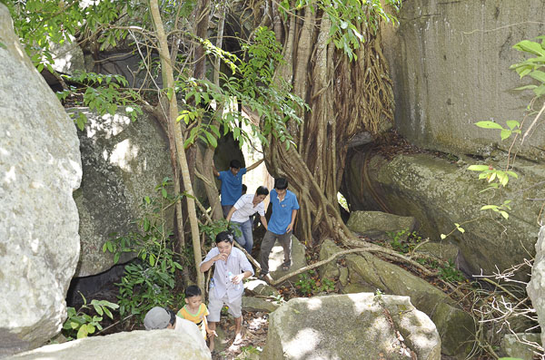
<instances>
[{"instance_id":1,"label":"man in blue shirt with arm stretched out against the roots","mask_svg":"<svg viewBox=\"0 0 545 360\"><path fill-rule=\"evenodd\" d=\"M248 168L242 168L241 161L233 160L229 164L229 170L218 171L213 165L213 176L222 180L222 210L223 218L227 218L229 210L233 208L234 203L243 195L243 175L253 170L263 162L263 159L250 165ZM241 169L242 168L242 169Z\"/></svg>"}]
</instances>

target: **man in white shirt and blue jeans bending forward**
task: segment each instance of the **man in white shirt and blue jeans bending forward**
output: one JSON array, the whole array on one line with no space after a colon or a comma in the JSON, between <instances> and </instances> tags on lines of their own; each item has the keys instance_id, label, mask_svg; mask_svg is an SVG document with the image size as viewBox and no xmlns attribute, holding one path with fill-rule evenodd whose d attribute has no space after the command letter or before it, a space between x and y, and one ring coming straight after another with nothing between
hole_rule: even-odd
<instances>
[{"instance_id":1,"label":"man in white shirt and blue jeans bending forward","mask_svg":"<svg viewBox=\"0 0 545 360\"><path fill-rule=\"evenodd\" d=\"M253 235L252 235L252 219L250 218L256 212L259 213L265 230L267 229L267 219L265 219L265 207L263 200L269 195L269 190L264 186L260 186L255 190L255 194L244 194L235 203L233 208L227 214L227 221L231 221L233 225L241 230L242 234L235 237L248 254L252 254Z\"/></svg>"}]
</instances>

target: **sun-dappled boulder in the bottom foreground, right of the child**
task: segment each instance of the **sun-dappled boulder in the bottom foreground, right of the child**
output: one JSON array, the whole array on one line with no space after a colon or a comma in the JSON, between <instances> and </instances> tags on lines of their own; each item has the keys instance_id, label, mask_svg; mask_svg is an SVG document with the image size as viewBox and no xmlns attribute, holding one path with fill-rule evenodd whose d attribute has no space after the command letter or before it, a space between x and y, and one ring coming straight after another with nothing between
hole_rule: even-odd
<instances>
[{"instance_id":1,"label":"sun-dappled boulder in the bottom foreground, right of the child","mask_svg":"<svg viewBox=\"0 0 545 360\"><path fill-rule=\"evenodd\" d=\"M385 310L391 316L391 323ZM407 359L401 343L418 359L441 359L441 340L430 318L409 297L370 293L294 298L269 317L261 358Z\"/></svg>"}]
</instances>

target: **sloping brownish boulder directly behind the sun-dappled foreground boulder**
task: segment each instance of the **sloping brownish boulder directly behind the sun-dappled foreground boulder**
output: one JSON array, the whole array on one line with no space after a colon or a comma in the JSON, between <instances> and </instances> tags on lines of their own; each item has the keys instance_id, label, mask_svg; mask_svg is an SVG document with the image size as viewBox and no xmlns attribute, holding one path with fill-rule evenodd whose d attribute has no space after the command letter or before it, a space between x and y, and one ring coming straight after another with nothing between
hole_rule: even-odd
<instances>
[{"instance_id":1,"label":"sloping brownish boulder directly behind the sun-dappled foreground boulder","mask_svg":"<svg viewBox=\"0 0 545 360\"><path fill-rule=\"evenodd\" d=\"M326 240L322 243L320 259L329 258L339 251L341 248ZM326 267L332 264L334 262ZM349 284L342 288L344 293L374 292L379 289L384 294L411 297L411 303L430 316L437 326L442 352L445 355L468 354L471 345L467 345L475 328L473 319L440 289L369 253L346 256L346 267Z\"/></svg>"}]
</instances>

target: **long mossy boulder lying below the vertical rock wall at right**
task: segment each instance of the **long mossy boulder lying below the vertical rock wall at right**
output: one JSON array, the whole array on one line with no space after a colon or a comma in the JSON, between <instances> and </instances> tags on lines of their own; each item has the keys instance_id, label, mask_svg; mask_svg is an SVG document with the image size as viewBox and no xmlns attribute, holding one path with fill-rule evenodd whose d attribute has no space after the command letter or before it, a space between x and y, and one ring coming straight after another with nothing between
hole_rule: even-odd
<instances>
[{"instance_id":1,"label":"long mossy boulder lying below the vertical rock wall at right","mask_svg":"<svg viewBox=\"0 0 545 360\"><path fill-rule=\"evenodd\" d=\"M445 241L460 248L460 263L467 274L481 270L492 274L496 266L504 270L528 258L538 236L535 221L541 206L533 199L545 198L545 165L517 158L514 170L519 179L510 180L505 190L481 192L486 182L467 170L469 163L464 161L452 163L426 153L398 155L391 161L376 155L366 165L372 169L367 174L362 173L363 161L363 156L352 157L347 170L351 205L357 199L354 203L362 209L381 209L378 198L395 214L416 218L421 235L436 241L441 233L456 229L454 223L462 224L465 232L455 230ZM501 160L471 162L505 167ZM483 205L500 205L505 199L511 200L509 219L481 211Z\"/></svg>"}]
</instances>

